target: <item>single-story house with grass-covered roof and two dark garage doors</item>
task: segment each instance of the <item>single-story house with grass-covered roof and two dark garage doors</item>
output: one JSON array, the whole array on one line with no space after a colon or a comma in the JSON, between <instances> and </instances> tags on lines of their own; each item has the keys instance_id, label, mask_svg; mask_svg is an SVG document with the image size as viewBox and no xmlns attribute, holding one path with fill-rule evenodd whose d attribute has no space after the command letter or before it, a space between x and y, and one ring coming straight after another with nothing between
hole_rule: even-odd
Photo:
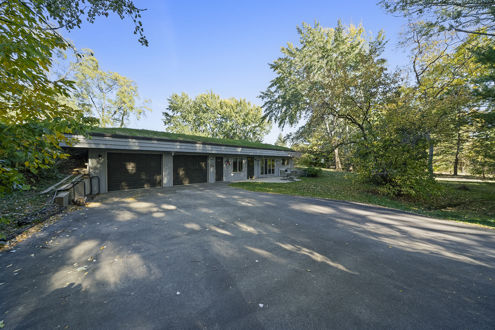
<instances>
[{"instance_id":1,"label":"single-story house with grass-covered roof and two dark garage doors","mask_svg":"<svg viewBox=\"0 0 495 330\"><path fill-rule=\"evenodd\" d=\"M89 175L99 177L101 193L280 176L280 170L293 166L295 155L290 148L249 141L98 130L91 138L69 136L79 140L74 148L87 150Z\"/></svg>"}]
</instances>

